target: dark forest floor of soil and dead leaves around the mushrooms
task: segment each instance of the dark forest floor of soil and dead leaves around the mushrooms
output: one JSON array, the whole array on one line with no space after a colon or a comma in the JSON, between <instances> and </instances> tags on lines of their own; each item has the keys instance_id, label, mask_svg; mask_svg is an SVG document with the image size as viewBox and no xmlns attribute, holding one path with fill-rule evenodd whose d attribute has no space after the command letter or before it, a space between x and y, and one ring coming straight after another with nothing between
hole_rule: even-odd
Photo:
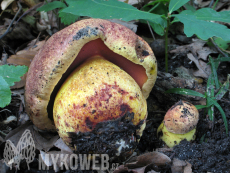
<instances>
[{"instance_id":1,"label":"dark forest floor of soil and dead leaves around the mushrooms","mask_svg":"<svg viewBox=\"0 0 230 173\"><path fill-rule=\"evenodd\" d=\"M220 1L222 2L222 1ZM224 1L223 1L224 2ZM200 1L207 3L207 1ZM207 3L208 4L208 3ZM229 9L230 3L226 3L225 9ZM3 13L0 19L0 27L2 31L0 35L6 31L6 28L12 21L12 16L16 10L16 4L8 7L10 12ZM223 9L223 7L222 7ZM30 11L29 16L39 18L36 10ZM49 16L50 17L50 16ZM28 19L27 19L28 20ZM57 32L58 19L53 17L52 21L44 22L40 19L40 29L38 25L33 28L26 20L21 20L12 32L8 33L1 41L0 51L2 54L1 65L30 65L31 60L38 50L44 45L45 41L50 37L48 32ZM15 24L15 23L14 23ZM207 80L211 75L211 67L208 57L217 59L221 52L215 47L210 46L207 41L202 41L196 36L186 37L183 33L183 25L180 23L173 24L169 30L169 71L165 72L165 42L163 37L156 36L155 39L149 31L146 24L135 23L137 27L136 34L146 40L151 46L158 63L158 77L156 84L147 99L148 119L146 128L141 140L135 150L136 160L142 164L135 162L130 166L127 164L120 165L115 172L197 172L197 173L229 173L230 172L230 133L226 134L223 117L218 109L214 108L214 120L209 120L207 109L199 109L199 122L196 129L196 139L194 141L182 141L173 148L168 148L157 135L157 129L164 119L167 110L180 100L188 101L194 105L205 105L206 100L189 95L166 94L165 91L171 88L186 88L205 94L207 91ZM43 28L46 29L41 29ZM48 29L48 26L50 27ZM229 24L227 25L229 27ZM61 25L61 28L64 28ZM230 74L230 62L220 62L217 75L221 84L228 80ZM12 100L5 108L0 108L0 172L45 172L38 170L38 154L44 152L60 152L65 146L60 142L57 134L39 133L34 129L29 117L25 111L24 103L24 86L26 76L21 82L18 82L11 88ZM229 81L228 81L229 82ZM214 86L213 86L214 87ZM215 90L217 93L218 90ZM218 100L222 107L228 131L230 131L230 92L228 92ZM18 141L22 133L30 129L33 131L33 137L36 138L36 157L30 163L30 170L27 169L26 161L22 160L20 170L14 167L10 170L3 162L3 153L6 146L6 140ZM58 141L59 140L59 141ZM13 143L14 143L13 142ZM61 143L58 145L57 143ZM152 152L156 152L154 156ZM159 155L160 152L162 155ZM145 159L141 156L145 154ZM149 155L148 155L149 154ZM155 164L150 161L156 157L168 157L171 161L166 163L161 161ZM142 159L142 160L141 160ZM121 163L119 163L121 164ZM116 165L117 167L118 165ZM47 172L54 172L52 166ZM72 172L70 170L60 172ZM81 172L81 171L78 171ZM84 172L84 171L82 171ZM90 171L88 171L90 172ZM91 171L92 172L92 171ZM96 172L96 171L94 171ZM100 172L100 171L98 171ZM108 171L107 171L108 172Z\"/></svg>"}]
</instances>

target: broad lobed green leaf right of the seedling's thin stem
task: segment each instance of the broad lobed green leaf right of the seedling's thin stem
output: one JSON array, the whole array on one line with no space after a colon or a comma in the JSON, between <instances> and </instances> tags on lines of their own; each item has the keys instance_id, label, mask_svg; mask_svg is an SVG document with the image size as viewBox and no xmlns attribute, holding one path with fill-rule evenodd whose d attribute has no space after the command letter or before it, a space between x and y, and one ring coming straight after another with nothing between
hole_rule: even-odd
<instances>
[{"instance_id":1,"label":"broad lobed green leaf right of the seedling's thin stem","mask_svg":"<svg viewBox=\"0 0 230 173\"><path fill-rule=\"evenodd\" d=\"M184 32L188 37L196 34L202 40L207 40L213 36L220 37L226 41L230 40L230 29L218 23L199 20L190 10L185 10L172 16L184 24Z\"/></svg>"}]
</instances>

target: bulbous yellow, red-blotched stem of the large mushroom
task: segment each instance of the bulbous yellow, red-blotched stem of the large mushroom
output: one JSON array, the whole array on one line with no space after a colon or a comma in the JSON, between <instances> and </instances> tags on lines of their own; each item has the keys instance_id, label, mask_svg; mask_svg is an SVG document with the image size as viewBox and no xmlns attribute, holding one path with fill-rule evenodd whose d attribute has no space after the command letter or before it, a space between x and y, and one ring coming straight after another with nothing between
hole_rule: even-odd
<instances>
[{"instance_id":1,"label":"bulbous yellow, red-blotched stem of the large mushroom","mask_svg":"<svg viewBox=\"0 0 230 173\"><path fill-rule=\"evenodd\" d=\"M116 144L118 140L123 139L126 145L129 145L130 142L132 143L132 138L135 137L134 134L138 134L140 130L143 131L141 125L147 118L146 99L135 80L118 66L100 57L87 60L69 75L58 91L53 109L54 122L59 136L72 149L77 146L78 150L82 145L79 144L82 140L79 133L89 136L90 133L87 132L97 129L101 122L104 123L105 129L106 125L109 125L110 128L104 129L104 134L96 130L95 136L100 134L96 140L93 137L87 138L88 143L98 145L94 150L101 148L103 141L115 147L118 146ZM129 125L132 124L132 129L124 125L127 118L122 119L127 112L132 115L132 118L129 118ZM117 125L112 125L115 121L118 122ZM128 131L130 133L127 133ZM72 135L70 135L71 132L73 132ZM119 137L116 137L118 133ZM76 139L80 140L74 141L73 134L78 135ZM108 134L114 137L106 140ZM103 145L103 148L105 147Z\"/></svg>"}]
</instances>

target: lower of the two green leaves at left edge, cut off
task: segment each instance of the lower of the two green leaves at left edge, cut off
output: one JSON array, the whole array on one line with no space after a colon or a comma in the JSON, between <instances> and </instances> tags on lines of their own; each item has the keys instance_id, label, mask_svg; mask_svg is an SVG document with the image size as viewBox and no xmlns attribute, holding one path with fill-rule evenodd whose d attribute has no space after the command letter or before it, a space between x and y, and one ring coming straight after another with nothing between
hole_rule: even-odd
<instances>
[{"instance_id":1,"label":"lower of the two green leaves at left edge, cut off","mask_svg":"<svg viewBox=\"0 0 230 173\"><path fill-rule=\"evenodd\" d=\"M8 83L0 76L0 107L4 108L11 101L11 91Z\"/></svg>"}]
</instances>

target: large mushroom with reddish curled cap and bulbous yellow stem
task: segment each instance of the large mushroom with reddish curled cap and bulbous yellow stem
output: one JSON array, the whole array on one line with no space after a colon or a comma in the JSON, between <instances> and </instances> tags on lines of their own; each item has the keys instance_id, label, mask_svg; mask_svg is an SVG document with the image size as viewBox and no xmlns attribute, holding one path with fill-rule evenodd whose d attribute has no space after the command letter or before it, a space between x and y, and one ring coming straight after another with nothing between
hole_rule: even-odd
<instances>
[{"instance_id":1,"label":"large mushroom with reddish curled cap and bulbous yellow stem","mask_svg":"<svg viewBox=\"0 0 230 173\"><path fill-rule=\"evenodd\" d=\"M142 135L157 64L130 29L101 19L54 34L27 75L26 110L79 153L129 153ZM56 127L55 127L56 126Z\"/></svg>"}]
</instances>

